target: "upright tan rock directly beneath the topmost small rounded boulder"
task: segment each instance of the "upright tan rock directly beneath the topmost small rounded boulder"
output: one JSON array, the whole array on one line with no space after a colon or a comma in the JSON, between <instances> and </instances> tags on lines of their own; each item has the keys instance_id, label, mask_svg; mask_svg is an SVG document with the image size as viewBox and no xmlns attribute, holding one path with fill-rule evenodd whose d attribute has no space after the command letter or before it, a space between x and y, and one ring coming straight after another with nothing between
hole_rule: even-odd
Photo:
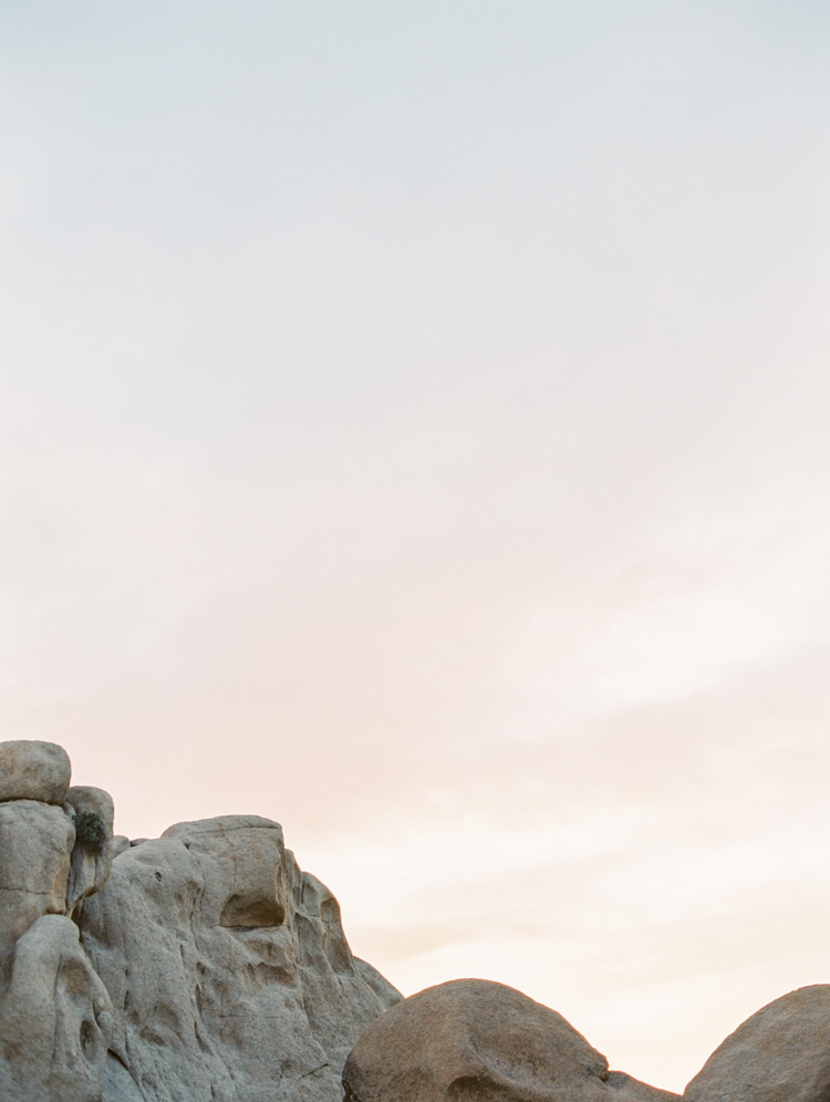
<instances>
[{"instance_id":1,"label":"upright tan rock directly beneath the topmost small rounded boulder","mask_svg":"<svg viewBox=\"0 0 830 1102\"><path fill-rule=\"evenodd\" d=\"M65 913L74 841L62 808L33 800L0 803L0 952L41 915Z\"/></svg>"}]
</instances>

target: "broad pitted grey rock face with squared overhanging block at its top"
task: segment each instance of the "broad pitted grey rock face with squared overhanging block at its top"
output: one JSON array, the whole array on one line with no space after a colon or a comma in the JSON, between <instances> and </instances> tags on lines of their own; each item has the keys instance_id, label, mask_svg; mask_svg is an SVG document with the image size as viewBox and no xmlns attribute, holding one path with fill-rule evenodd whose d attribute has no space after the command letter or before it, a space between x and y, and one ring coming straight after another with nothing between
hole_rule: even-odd
<instances>
[{"instance_id":1,"label":"broad pitted grey rock face with squared overhanging block at its top","mask_svg":"<svg viewBox=\"0 0 830 1102\"><path fill-rule=\"evenodd\" d=\"M106 1102L340 1102L349 1050L400 1000L255 815L124 849L79 921L114 1006Z\"/></svg>"}]
</instances>

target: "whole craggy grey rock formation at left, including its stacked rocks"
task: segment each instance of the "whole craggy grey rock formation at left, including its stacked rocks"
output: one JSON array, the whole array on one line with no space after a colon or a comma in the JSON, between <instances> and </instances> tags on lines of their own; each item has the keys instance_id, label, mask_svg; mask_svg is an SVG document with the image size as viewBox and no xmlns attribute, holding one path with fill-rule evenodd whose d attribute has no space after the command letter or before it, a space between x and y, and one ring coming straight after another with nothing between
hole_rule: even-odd
<instances>
[{"instance_id":1,"label":"whole craggy grey rock formation at left, including its stacked rocks","mask_svg":"<svg viewBox=\"0 0 830 1102\"><path fill-rule=\"evenodd\" d=\"M131 843L60 747L0 744L0 1102L340 1102L400 998L278 823Z\"/></svg>"}]
</instances>

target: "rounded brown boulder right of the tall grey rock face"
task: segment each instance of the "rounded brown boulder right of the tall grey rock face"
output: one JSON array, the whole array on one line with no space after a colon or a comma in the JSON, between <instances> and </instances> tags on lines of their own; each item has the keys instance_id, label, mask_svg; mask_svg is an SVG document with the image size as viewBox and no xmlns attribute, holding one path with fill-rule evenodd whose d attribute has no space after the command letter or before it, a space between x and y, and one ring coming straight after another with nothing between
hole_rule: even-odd
<instances>
[{"instance_id":1,"label":"rounded brown boulder right of the tall grey rock face","mask_svg":"<svg viewBox=\"0 0 830 1102\"><path fill-rule=\"evenodd\" d=\"M610 1072L566 1019L511 987L457 979L393 1007L346 1061L347 1102L660 1102Z\"/></svg>"}]
</instances>

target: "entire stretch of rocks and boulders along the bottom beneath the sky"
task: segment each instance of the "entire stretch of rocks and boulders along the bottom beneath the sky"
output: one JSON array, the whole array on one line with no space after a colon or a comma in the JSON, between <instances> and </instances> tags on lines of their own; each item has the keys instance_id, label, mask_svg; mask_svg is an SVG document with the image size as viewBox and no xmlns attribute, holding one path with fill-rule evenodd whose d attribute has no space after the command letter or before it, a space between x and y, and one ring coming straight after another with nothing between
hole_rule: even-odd
<instances>
[{"instance_id":1,"label":"entire stretch of rocks and boulders along the bottom beneath the sky","mask_svg":"<svg viewBox=\"0 0 830 1102\"><path fill-rule=\"evenodd\" d=\"M402 1000L278 823L131 842L70 772L0 742L0 1102L678 1102L501 984ZM830 986L759 1010L683 1098L830 1102Z\"/></svg>"}]
</instances>

